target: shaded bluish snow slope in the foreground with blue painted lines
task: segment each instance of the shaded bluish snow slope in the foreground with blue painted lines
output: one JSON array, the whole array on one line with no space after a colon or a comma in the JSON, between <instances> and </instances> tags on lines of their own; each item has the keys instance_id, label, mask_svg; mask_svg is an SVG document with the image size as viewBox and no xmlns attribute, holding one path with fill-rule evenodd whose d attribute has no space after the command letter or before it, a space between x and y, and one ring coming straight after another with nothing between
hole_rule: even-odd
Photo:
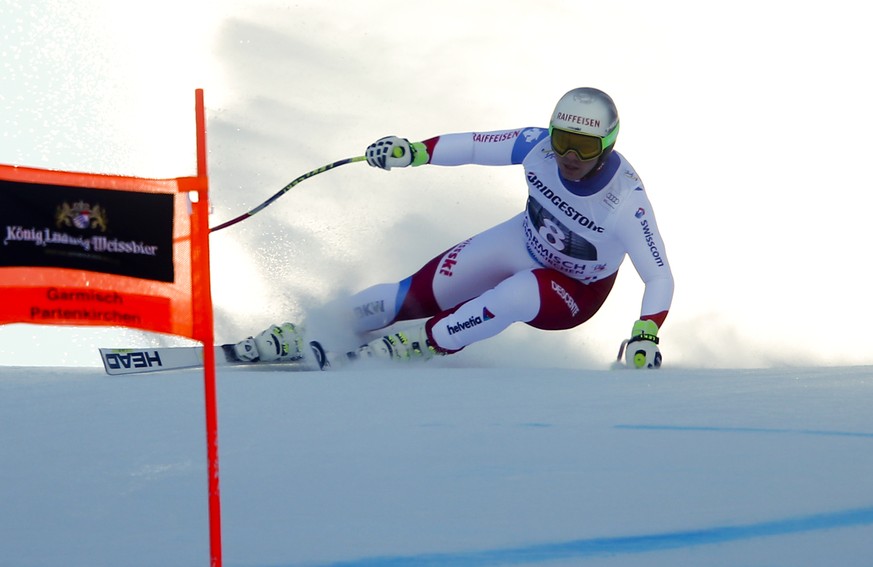
<instances>
[{"instance_id":1,"label":"shaded bluish snow slope in the foreground with blue painted lines","mask_svg":"<svg viewBox=\"0 0 873 567\"><path fill-rule=\"evenodd\" d=\"M873 369L220 369L224 563L866 565ZM4 367L0 565L208 563L202 373Z\"/></svg>"}]
</instances>

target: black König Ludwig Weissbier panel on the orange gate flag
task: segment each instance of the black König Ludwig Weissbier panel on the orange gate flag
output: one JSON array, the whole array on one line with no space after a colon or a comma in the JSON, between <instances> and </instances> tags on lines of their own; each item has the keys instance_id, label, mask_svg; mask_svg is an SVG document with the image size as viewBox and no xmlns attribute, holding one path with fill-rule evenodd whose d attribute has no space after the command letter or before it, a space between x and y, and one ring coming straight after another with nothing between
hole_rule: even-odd
<instances>
[{"instance_id":1,"label":"black K\u00f6nig Ludwig Weissbier panel on the orange gate flag","mask_svg":"<svg viewBox=\"0 0 873 567\"><path fill-rule=\"evenodd\" d=\"M174 281L173 195L0 180L0 267Z\"/></svg>"}]
</instances>

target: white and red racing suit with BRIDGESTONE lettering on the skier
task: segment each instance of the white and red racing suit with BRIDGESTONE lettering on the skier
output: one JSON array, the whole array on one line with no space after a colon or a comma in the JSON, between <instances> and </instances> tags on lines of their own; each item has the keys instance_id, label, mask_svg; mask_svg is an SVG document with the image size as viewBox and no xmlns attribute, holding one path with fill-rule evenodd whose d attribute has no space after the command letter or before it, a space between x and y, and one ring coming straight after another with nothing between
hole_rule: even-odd
<instances>
[{"instance_id":1,"label":"white and red racing suit with BRIDGESTONE lettering on the skier","mask_svg":"<svg viewBox=\"0 0 873 567\"><path fill-rule=\"evenodd\" d=\"M625 256L645 283L641 318L664 322L670 264L643 183L621 154L572 182L559 175L544 128L448 134L424 144L433 165L521 165L527 206L408 278L346 300L355 332L427 319L428 338L450 353L515 322L569 329L600 309Z\"/></svg>"}]
</instances>

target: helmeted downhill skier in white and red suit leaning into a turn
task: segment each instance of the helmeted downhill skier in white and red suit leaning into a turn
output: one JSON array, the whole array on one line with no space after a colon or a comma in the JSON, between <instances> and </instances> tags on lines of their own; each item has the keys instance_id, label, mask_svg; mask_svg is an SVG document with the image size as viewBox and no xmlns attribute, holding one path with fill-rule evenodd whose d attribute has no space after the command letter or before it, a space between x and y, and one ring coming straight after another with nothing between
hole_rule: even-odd
<instances>
[{"instance_id":1,"label":"helmeted downhill skier in white and red suit leaning into a turn","mask_svg":"<svg viewBox=\"0 0 873 567\"><path fill-rule=\"evenodd\" d=\"M657 335L672 301L673 276L643 183L614 151L618 130L612 99L577 88L558 101L548 129L446 134L416 143L387 136L371 144L367 163L384 170L521 165L528 199L521 213L452 246L408 278L340 301L340 313L359 336L418 320L358 354L425 360L456 353L515 322L571 329L600 309L628 255L645 291L622 348L633 345L632 366L660 366ZM303 357L306 345L302 328L285 323L235 350L243 360L282 361Z\"/></svg>"}]
</instances>

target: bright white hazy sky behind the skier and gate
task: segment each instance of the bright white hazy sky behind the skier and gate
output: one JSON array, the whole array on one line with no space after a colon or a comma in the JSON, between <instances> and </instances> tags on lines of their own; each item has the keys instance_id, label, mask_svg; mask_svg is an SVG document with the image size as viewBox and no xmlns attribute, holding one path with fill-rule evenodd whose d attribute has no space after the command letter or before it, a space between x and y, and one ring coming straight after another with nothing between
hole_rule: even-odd
<instances>
[{"instance_id":1,"label":"bright white hazy sky behind the skier and gate","mask_svg":"<svg viewBox=\"0 0 873 567\"><path fill-rule=\"evenodd\" d=\"M189 174L203 87L217 224L383 135L546 125L564 92L595 86L618 104L617 148L646 183L676 276L665 363L870 364L873 41L859 10L13 0L0 7L0 162ZM357 164L295 191L213 237L220 340L356 289L342 282L404 277L524 203L514 168ZM628 263L601 314L548 340L608 359L640 294ZM0 329L0 363L44 363L69 334ZM117 331L75 336L89 353L106 337L125 346Z\"/></svg>"}]
</instances>

